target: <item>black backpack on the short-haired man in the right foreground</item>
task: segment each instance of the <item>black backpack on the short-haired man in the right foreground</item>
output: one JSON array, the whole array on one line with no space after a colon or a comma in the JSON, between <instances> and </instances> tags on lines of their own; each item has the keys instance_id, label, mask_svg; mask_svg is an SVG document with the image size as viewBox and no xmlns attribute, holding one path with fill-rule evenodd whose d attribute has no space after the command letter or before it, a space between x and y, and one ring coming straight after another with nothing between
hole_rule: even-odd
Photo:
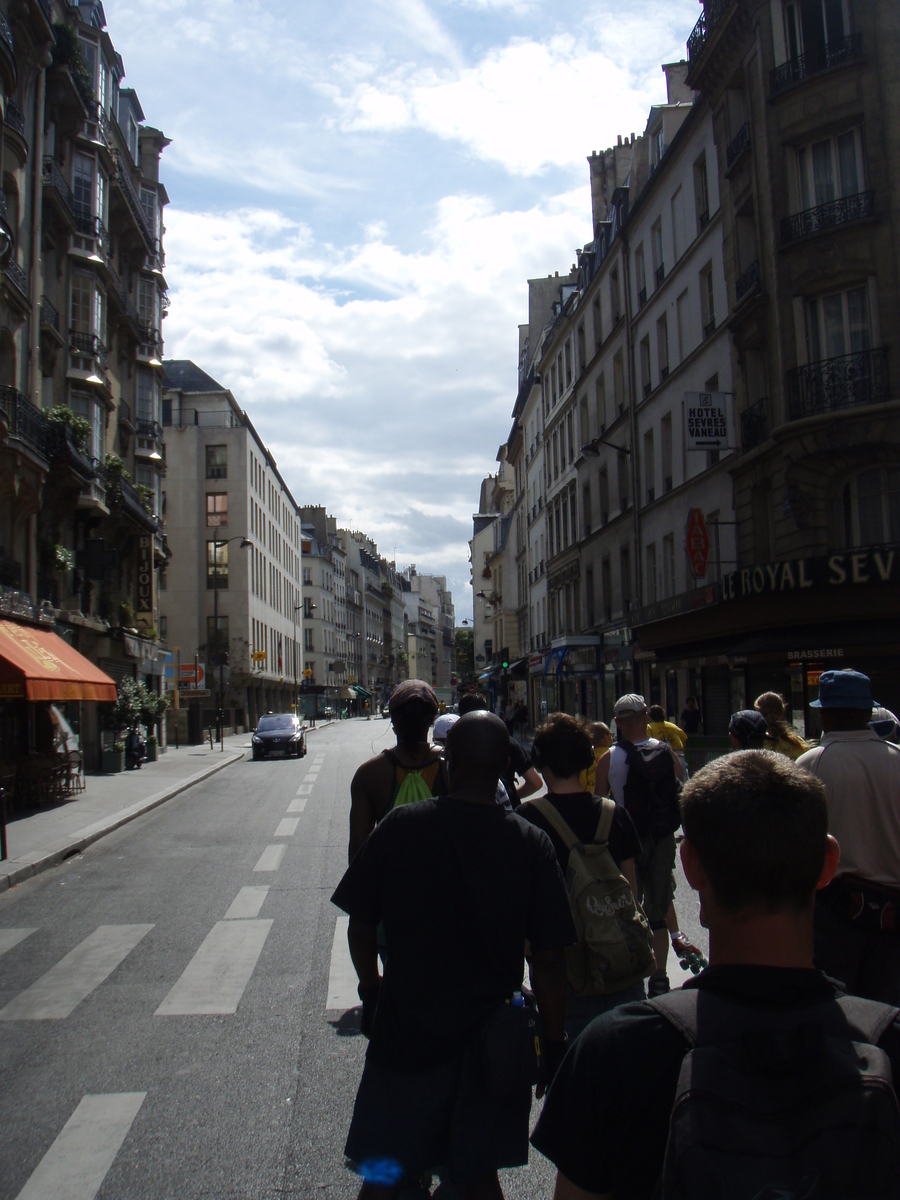
<instances>
[{"instance_id":1,"label":"black backpack on the short-haired man in the right foreground","mask_svg":"<svg viewBox=\"0 0 900 1200\"><path fill-rule=\"evenodd\" d=\"M658 1200L900 1196L900 1108L876 1045L896 1008L767 1010L698 988L650 1003L691 1046Z\"/></svg>"}]
</instances>

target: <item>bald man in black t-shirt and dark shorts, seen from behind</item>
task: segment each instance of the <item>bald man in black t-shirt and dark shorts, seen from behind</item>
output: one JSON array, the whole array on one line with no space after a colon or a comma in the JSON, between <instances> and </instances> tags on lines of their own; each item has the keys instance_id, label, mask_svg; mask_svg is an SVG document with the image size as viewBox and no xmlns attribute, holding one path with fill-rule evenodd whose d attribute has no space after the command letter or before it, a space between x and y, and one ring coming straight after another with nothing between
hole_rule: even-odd
<instances>
[{"instance_id":1,"label":"bald man in black t-shirt and dark shorts, seen from behind","mask_svg":"<svg viewBox=\"0 0 900 1200\"><path fill-rule=\"evenodd\" d=\"M497 1200L497 1170L528 1160L530 1087L487 1093L479 1033L521 990L528 941L557 1063L563 950L576 936L550 838L496 803L508 760L503 721L461 718L446 740L450 794L390 811L331 898L350 916L360 995L378 997L346 1147L364 1178L360 1200L395 1195L403 1178L442 1165L467 1200ZM379 922L390 948L383 979ZM397 1164L391 1186L366 1165L385 1159Z\"/></svg>"}]
</instances>

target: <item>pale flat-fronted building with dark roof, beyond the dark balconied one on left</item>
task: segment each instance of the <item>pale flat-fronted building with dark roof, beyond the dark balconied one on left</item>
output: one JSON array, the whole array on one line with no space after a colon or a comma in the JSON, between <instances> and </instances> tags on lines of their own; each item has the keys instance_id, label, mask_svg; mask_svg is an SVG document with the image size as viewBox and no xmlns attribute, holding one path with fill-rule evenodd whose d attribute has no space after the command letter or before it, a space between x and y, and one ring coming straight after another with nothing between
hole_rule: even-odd
<instances>
[{"instance_id":1,"label":"pale flat-fronted building with dark roof, beyond the dark balconied one on left","mask_svg":"<svg viewBox=\"0 0 900 1200\"><path fill-rule=\"evenodd\" d=\"M289 712L302 679L301 514L277 463L232 392L190 360L164 364L169 468L166 530L173 559L160 613L181 661L198 655L210 692L196 727L254 727Z\"/></svg>"}]
</instances>

